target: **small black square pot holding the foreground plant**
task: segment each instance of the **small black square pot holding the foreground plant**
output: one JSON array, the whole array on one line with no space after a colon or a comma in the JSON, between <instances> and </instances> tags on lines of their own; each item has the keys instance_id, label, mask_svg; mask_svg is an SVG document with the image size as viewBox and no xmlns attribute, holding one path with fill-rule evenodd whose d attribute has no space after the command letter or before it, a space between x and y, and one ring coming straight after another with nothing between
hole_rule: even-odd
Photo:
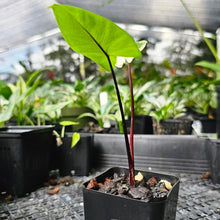
<instances>
[{"instance_id":1,"label":"small black square pot holding the foreground plant","mask_svg":"<svg viewBox=\"0 0 220 220\"><path fill-rule=\"evenodd\" d=\"M136 171L137 173L138 171ZM110 168L96 177L97 182L104 182L106 177L114 173L126 173L126 168ZM155 177L158 181L166 179L173 185L167 198L161 201L144 202L118 195L110 195L94 189L87 189L84 183L83 199L85 220L174 220L179 192L179 179L166 174L141 171L146 179Z\"/></svg>"}]
</instances>

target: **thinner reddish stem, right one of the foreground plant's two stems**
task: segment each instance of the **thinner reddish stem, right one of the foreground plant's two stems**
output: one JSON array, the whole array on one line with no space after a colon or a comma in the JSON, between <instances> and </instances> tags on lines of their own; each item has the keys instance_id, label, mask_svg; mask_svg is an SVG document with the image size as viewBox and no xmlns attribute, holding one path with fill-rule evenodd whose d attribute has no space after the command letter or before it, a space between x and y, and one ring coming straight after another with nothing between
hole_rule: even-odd
<instances>
[{"instance_id":1,"label":"thinner reddish stem, right one of the foreground plant's two stems","mask_svg":"<svg viewBox=\"0 0 220 220\"><path fill-rule=\"evenodd\" d=\"M128 76L129 76L129 86L130 86L130 95L131 95L130 151L131 151L132 163L134 164L134 94L133 94L133 83L132 83L130 63L128 63Z\"/></svg>"}]
</instances>

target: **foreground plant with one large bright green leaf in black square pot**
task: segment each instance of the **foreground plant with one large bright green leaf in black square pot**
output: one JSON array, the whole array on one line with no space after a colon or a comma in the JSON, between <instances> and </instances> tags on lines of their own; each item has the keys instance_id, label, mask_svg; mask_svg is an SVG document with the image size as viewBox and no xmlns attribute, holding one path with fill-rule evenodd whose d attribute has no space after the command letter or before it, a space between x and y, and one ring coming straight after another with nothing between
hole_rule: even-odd
<instances>
[{"instance_id":1,"label":"foreground plant with one large bright green leaf in black square pot","mask_svg":"<svg viewBox=\"0 0 220 220\"><path fill-rule=\"evenodd\" d=\"M61 33L67 43L70 45L72 49L76 52L82 53L83 55L91 58L93 61L101 65L107 71L112 73L117 99L119 102L120 113L122 118L122 125L124 131L125 145L128 157L128 166L127 170L113 169L116 171L117 175L121 175L122 173L127 174L129 176L129 186L135 187L135 169L134 169L134 149L133 149L133 119L134 119L134 108L131 110L131 132L130 132L130 141L128 139L127 130L126 130L126 122L124 117L124 111L122 107L122 102L120 99L120 92L114 72L114 66L116 64L117 56L121 57L134 57L140 58L141 52L139 47L141 47L143 42L138 44L132 39L130 35L128 35L124 30L119 28L113 22L108 19L91 13L89 11L71 7L67 5L53 5L51 6L53 12L55 14L58 26L61 30ZM130 59L128 59L130 62ZM129 82L130 82L130 92L131 92L131 106L133 106L133 90L132 90L132 78L130 65L129 68ZM107 172L107 175L112 176L112 171ZM143 173L145 178L148 178L146 173ZM106 173L101 179L105 179ZM151 174L149 174L151 176ZM156 174L153 174L156 175ZM167 176L166 176L167 177ZM165 176L158 174L156 178L160 181L162 178L166 178ZM171 181L171 176L167 177ZM97 179L100 179L97 177ZM169 216L170 219L175 219L176 213L176 202L177 202L177 194L178 194L178 186L179 180L174 177L174 182L172 182L172 189L170 190L169 195L165 198L163 205L158 206L157 202L144 202L143 206L140 205L140 210L138 215L141 216L138 219L155 219L154 214L161 213L160 219L167 219ZM90 181L91 182L91 181ZM84 211L86 219L135 219L137 217L137 212L134 211L135 205L140 201L134 200L131 198L123 198L114 195L108 195L106 193L100 192L93 189L88 189L89 183L85 183L85 187L83 189L84 195ZM174 195L175 194L175 195ZM107 195L107 197L106 197ZM174 198L175 199L172 199ZM115 199L116 198L116 199ZM168 202L170 199L171 202ZM119 202L116 203L116 200ZM88 207L93 206L91 202L96 203L101 209L106 209L107 215L100 215L99 209L90 209ZM161 202L161 201L160 201ZM160 203L159 202L159 203ZM171 205L172 203L172 205ZM129 205L130 204L130 205ZM110 205L110 206L109 206ZM126 211L124 211L123 207L127 207ZM96 206L97 207L97 206ZM111 207L110 214L107 210ZM147 208L148 207L148 208ZM143 209L142 209L143 208ZM155 208L155 209L154 209ZM171 212L167 211L172 210ZM122 210L121 210L122 209ZM145 210L151 210L149 214L145 212ZM92 210L92 212L91 212ZM167 215L167 213L169 214ZM127 216L126 213L131 214ZM139 214L141 213L141 214ZM109 214L109 215L108 215ZM146 215L146 216L145 216ZM114 216L114 217L113 217ZM122 217L124 216L124 218ZM156 216L157 219L158 215Z\"/></svg>"}]
</instances>

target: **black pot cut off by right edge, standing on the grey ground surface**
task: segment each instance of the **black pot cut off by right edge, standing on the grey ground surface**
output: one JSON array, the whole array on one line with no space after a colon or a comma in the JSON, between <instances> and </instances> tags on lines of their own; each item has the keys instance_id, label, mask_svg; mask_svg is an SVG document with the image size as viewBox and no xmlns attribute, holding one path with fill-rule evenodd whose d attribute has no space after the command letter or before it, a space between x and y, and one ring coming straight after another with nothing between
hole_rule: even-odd
<instances>
[{"instance_id":1,"label":"black pot cut off by right edge, standing on the grey ground surface","mask_svg":"<svg viewBox=\"0 0 220 220\"><path fill-rule=\"evenodd\" d=\"M220 140L207 139L206 155L209 161L212 182L220 183Z\"/></svg>"}]
</instances>

